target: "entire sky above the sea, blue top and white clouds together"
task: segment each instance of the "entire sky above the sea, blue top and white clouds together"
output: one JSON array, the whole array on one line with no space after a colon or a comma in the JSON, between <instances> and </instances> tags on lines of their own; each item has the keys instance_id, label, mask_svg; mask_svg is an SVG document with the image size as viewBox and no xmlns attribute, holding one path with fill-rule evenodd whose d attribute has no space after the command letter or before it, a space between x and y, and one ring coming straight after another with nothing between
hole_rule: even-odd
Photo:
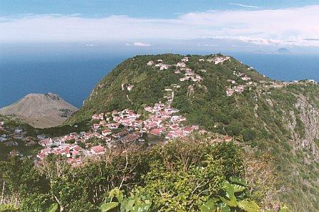
<instances>
[{"instance_id":1,"label":"entire sky above the sea, blue top and white clouds together","mask_svg":"<svg viewBox=\"0 0 319 212\"><path fill-rule=\"evenodd\" d=\"M319 53L318 20L313 0L0 0L0 43Z\"/></svg>"}]
</instances>

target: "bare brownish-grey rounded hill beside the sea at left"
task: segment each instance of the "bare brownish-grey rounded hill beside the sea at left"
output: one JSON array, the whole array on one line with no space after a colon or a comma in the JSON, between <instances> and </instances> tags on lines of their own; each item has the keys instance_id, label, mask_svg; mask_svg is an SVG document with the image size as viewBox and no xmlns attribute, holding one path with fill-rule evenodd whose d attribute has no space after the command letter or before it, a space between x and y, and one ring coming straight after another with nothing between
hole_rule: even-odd
<instances>
[{"instance_id":1,"label":"bare brownish-grey rounded hill beside the sea at left","mask_svg":"<svg viewBox=\"0 0 319 212\"><path fill-rule=\"evenodd\" d=\"M78 108L51 92L31 93L18 102L0 109L1 115L15 115L33 127L56 127Z\"/></svg>"}]
</instances>

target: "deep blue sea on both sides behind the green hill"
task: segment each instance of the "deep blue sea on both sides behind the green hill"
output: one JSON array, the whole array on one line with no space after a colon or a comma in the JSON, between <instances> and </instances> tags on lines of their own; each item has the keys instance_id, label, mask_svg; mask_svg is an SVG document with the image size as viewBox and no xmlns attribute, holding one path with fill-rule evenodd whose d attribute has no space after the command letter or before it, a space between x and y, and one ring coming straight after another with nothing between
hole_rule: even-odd
<instances>
[{"instance_id":1,"label":"deep blue sea on both sides behind the green hill","mask_svg":"<svg viewBox=\"0 0 319 212\"><path fill-rule=\"evenodd\" d=\"M122 60L137 53L96 49L78 49L76 53L46 53L46 49L28 51L26 54L23 51L2 51L0 107L10 105L30 92L55 92L67 102L80 107L103 76ZM229 54L276 80L307 78L319 81L319 55Z\"/></svg>"}]
</instances>

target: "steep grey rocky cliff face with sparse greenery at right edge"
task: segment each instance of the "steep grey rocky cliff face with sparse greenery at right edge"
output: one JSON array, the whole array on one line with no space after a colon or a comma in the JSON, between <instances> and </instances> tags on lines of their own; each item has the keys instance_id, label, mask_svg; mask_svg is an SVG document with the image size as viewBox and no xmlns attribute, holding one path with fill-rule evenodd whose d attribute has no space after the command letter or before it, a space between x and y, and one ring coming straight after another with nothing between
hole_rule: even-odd
<instances>
[{"instance_id":1,"label":"steep grey rocky cliff face with sparse greenery at right edge","mask_svg":"<svg viewBox=\"0 0 319 212\"><path fill-rule=\"evenodd\" d=\"M290 85L259 100L258 121L272 135L259 145L266 145L263 151L275 158L278 198L293 211L318 211L318 85ZM261 107L263 104L266 106Z\"/></svg>"}]
</instances>

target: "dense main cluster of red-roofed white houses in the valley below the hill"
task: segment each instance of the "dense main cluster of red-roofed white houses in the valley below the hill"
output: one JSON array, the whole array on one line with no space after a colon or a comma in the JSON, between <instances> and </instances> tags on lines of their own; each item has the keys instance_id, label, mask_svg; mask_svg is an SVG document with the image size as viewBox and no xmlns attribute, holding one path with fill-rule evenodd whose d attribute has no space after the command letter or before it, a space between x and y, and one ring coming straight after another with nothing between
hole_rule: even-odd
<instances>
[{"instance_id":1,"label":"dense main cluster of red-roofed white houses in the valley below the hill","mask_svg":"<svg viewBox=\"0 0 319 212\"><path fill-rule=\"evenodd\" d=\"M184 127L182 122L186 118L175 115L179 110L169 105L156 103L145 107L145 110L150 112L145 120L140 120L139 114L128 109L93 115L94 123L90 132L73 132L63 137L41 139L38 143L44 149L38 152L37 158L41 161L48 154L59 154L76 166L81 164L83 157L97 157L104 154L107 148L118 144L142 143L143 134L163 135L162 138L168 140L186 137L199 129L198 126ZM92 146L89 142L91 138L100 139L103 143Z\"/></svg>"}]
</instances>

